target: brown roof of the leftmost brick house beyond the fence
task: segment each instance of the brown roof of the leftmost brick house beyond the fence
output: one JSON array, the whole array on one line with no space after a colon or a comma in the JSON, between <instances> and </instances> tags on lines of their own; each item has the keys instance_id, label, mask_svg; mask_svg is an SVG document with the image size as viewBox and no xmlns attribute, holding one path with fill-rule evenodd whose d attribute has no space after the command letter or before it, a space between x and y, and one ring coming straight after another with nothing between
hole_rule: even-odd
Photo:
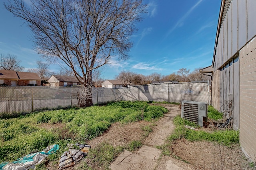
<instances>
[{"instance_id":1,"label":"brown roof of the leftmost brick house beyond the fence","mask_svg":"<svg viewBox=\"0 0 256 170\"><path fill-rule=\"evenodd\" d=\"M0 78L15 80L41 80L35 72L16 72L13 70L0 70Z\"/></svg>"}]
</instances>

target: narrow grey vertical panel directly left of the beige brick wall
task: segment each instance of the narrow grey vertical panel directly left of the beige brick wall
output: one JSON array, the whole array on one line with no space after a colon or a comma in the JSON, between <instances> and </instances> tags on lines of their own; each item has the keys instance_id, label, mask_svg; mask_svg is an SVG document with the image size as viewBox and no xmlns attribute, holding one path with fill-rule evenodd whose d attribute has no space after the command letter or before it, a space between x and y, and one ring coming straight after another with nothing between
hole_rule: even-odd
<instances>
[{"instance_id":1,"label":"narrow grey vertical panel directly left of the beige brick wall","mask_svg":"<svg viewBox=\"0 0 256 170\"><path fill-rule=\"evenodd\" d=\"M236 60L234 59L234 62ZM233 94L233 115L234 129L239 129L239 60L234 64L234 94Z\"/></svg>"}]
</instances>

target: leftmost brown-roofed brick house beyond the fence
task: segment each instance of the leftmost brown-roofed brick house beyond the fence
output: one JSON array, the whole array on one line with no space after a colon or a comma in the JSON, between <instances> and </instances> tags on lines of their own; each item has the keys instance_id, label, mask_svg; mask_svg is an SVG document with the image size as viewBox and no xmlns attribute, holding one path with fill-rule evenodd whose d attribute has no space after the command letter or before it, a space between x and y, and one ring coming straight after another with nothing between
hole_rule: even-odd
<instances>
[{"instance_id":1,"label":"leftmost brown-roofed brick house beyond the fence","mask_svg":"<svg viewBox=\"0 0 256 170\"><path fill-rule=\"evenodd\" d=\"M41 78L35 72L0 70L0 84L5 86L41 86Z\"/></svg>"}]
</instances>

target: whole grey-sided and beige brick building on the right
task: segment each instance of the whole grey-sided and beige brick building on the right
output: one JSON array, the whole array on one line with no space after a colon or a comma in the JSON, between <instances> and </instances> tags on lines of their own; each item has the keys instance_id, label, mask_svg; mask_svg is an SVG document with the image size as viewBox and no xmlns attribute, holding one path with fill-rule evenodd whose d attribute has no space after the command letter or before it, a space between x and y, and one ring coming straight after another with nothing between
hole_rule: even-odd
<instances>
[{"instance_id":1,"label":"whole grey-sided and beige brick building on the right","mask_svg":"<svg viewBox=\"0 0 256 170\"><path fill-rule=\"evenodd\" d=\"M222 0L212 66L212 105L233 119L256 162L256 0Z\"/></svg>"}]
</instances>

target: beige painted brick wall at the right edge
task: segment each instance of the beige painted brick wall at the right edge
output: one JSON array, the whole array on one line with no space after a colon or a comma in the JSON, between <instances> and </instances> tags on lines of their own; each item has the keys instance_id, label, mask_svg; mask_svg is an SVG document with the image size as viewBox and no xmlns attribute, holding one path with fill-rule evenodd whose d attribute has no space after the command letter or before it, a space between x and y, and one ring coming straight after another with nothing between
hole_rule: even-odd
<instances>
[{"instance_id":1,"label":"beige painted brick wall at the right edge","mask_svg":"<svg viewBox=\"0 0 256 170\"><path fill-rule=\"evenodd\" d=\"M240 51L240 144L256 161L256 39Z\"/></svg>"}]
</instances>

